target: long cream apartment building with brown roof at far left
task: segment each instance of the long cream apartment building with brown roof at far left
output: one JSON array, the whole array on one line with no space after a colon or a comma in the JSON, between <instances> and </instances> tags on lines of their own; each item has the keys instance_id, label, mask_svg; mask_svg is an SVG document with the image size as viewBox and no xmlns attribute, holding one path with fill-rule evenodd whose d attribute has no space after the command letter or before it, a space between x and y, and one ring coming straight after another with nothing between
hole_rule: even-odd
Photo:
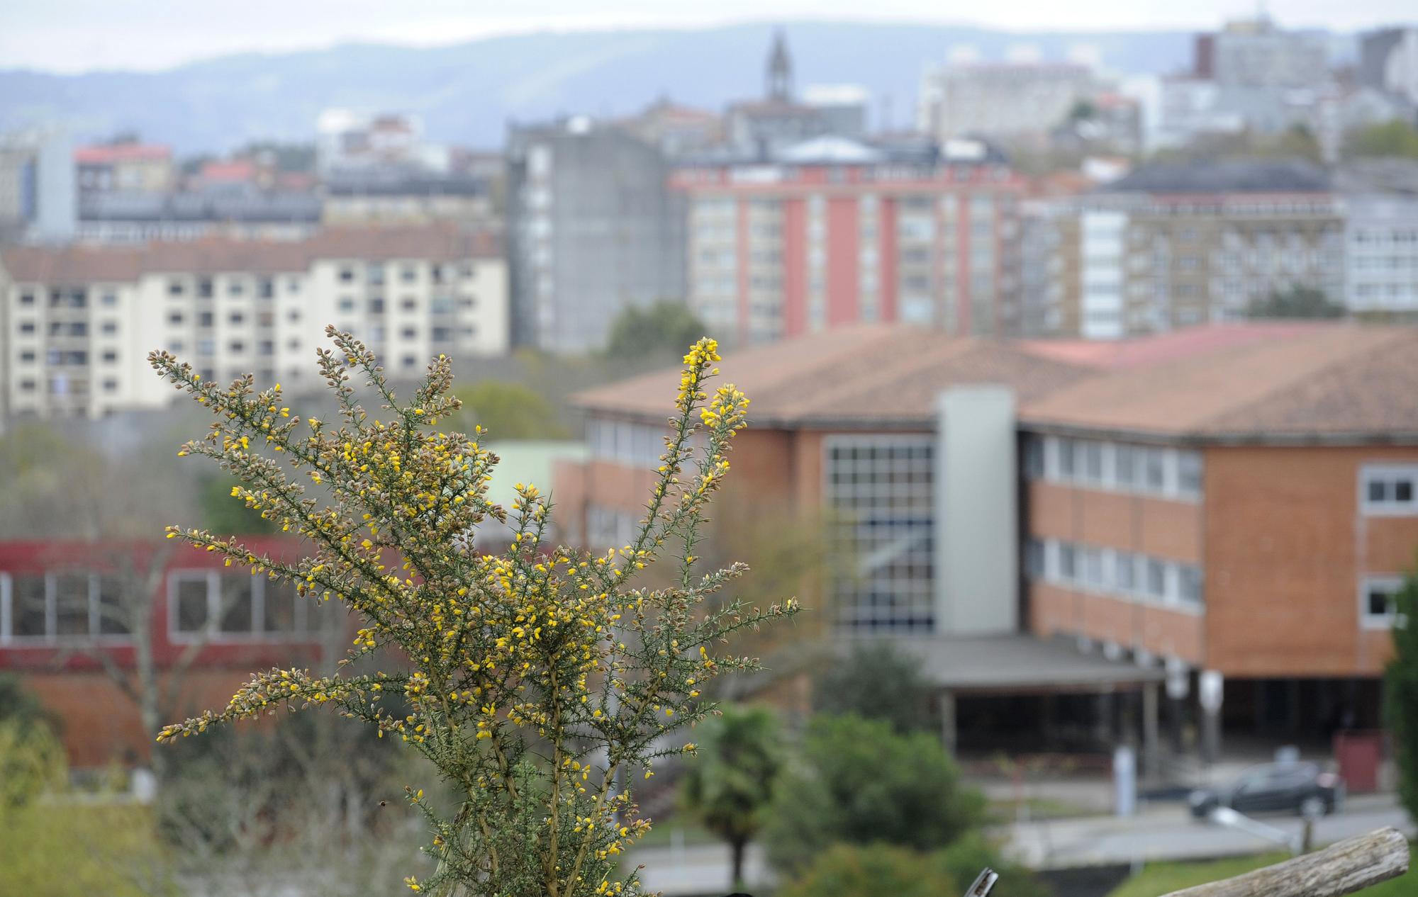
<instances>
[{"instance_id":1,"label":"long cream apartment building with brown roof at far left","mask_svg":"<svg viewBox=\"0 0 1418 897\"><path fill-rule=\"evenodd\" d=\"M0 254L0 384L13 415L98 417L172 401L146 357L207 378L315 387L325 326L396 378L438 353L508 349L501 241L451 228L328 230L303 241L14 247Z\"/></svg>"}]
</instances>

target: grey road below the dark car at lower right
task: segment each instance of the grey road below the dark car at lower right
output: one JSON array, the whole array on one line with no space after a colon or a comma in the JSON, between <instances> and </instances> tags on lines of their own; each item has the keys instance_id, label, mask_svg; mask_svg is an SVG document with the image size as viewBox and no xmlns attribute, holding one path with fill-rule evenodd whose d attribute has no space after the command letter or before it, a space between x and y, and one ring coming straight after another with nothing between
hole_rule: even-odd
<instances>
[{"instance_id":1,"label":"grey road below the dark car at lower right","mask_svg":"<svg viewBox=\"0 0 1418 897\"><path fill-rule=\"evenodd\" d=\"M1297 835L1295 816L1266 816L1266 825ZM1354 835L1394 826L1412 836L1418 826L1391 795L1350 798L1344 811L1314 823L1314 843L1330 845ZM1217 825L1194 822L1177 803L1149 808L1130 819L1093 816L1004 826L1010 856L1034 869L1066 869L1137 860L1188 860L1283 850L1265 839Z\"/></svg>"}]
</instances>

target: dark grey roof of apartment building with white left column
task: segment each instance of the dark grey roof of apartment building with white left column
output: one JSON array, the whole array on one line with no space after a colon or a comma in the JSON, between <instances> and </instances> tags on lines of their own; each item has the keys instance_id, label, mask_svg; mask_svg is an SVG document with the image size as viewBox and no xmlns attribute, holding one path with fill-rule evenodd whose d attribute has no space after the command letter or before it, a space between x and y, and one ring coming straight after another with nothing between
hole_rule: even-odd
<instances>
[{"instance_id":1,"label":"dark grey roof of apartment building with white left column","mask_svg":"<svg viewBox=\"0 0 1418 897\"><path fill-rule=\"evenodd\" d=\"M1324 169L1299 159L1159 163L1100 187L1106 193L1326 193Z\"/></svg>"}]
</instances>

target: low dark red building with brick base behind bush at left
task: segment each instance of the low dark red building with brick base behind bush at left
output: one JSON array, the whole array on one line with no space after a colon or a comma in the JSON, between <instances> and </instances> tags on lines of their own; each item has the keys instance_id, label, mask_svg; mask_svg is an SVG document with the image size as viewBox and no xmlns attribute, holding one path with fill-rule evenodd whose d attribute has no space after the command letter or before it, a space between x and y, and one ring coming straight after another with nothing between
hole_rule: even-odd
<instances>
[{"instance_id":1,"label":"low dark red building with brick base behind bush at left","mask_svg":"<svg viewBox=\"0 0 1418 897\"><path fill-rule=\"evenodd\" d=\"M248 537L294 561L294 540ZM149 602L146 632L135 608ZM271 666L333 663L349 643L343 607L301 598L285 582L223 565L186 544L0 543L0 673L16 673L54 711L74 767L147 757L135 697L142 636L156 687L176 716L223 707ZM176 720L163 720L172 723Z\"/></svg>"}]
</instances>

